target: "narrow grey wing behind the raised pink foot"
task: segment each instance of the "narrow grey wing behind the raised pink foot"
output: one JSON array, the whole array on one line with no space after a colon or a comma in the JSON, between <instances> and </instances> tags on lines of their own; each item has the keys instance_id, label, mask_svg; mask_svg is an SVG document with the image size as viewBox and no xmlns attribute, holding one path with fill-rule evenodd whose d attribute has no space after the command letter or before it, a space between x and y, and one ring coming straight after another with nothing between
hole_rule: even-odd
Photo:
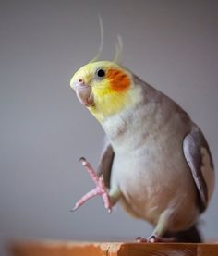
<instances>
[{"instance_id":1,"label":"narrow grey wing behind the raised pink foot","mask_svg":"<svg viewBox=\"0 0 218 256\"><path fill-rule=\"evenodd\" d=\"M109 140L105 140L105 145L103 147L102 156L100 158L100 163L98 166L99 176L103 174L103 180L105 186L110 188L110 179L111 179L111 169L113 165L115 152Z\"/></svg>"}]
</instances>

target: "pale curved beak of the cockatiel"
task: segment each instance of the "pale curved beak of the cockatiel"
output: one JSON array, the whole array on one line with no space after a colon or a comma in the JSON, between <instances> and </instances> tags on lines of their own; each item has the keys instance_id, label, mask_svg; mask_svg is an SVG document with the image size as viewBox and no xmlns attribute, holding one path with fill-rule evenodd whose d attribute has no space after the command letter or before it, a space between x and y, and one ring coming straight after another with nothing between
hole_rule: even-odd
<instances>
[{"instance_id":1,"label":"pale curved beak of the cockatiel","mask_svg":"<svg viewBox=\"0 0 218 256\"><path fill-rule=\"evenodd\" d=\"M90 85L85 83L75 83L73 89L76 91L81 104L87 107L94 105L94 97Z\"/></svg>"}]
</instances>

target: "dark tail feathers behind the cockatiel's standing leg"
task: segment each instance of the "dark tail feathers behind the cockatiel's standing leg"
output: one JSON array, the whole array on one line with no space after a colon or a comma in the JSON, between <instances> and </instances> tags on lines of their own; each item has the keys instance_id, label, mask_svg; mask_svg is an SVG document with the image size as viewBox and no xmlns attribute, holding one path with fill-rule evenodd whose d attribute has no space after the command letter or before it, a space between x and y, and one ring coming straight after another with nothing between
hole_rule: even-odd
<instances>
[{"instance_id":1,"label":"dark tail feathers behind the cockatiel's standing leg","mask_svg":"<svg viewBox=\"0 0 218 256\"><path fill-rule=\"evenodd\" d=\"M177 233L166 232L163 238L176 238L176 242L183 243L201 243L202 238L197 225L191 226L188 230L180 231Z\"/></svg>"}]
</instances>

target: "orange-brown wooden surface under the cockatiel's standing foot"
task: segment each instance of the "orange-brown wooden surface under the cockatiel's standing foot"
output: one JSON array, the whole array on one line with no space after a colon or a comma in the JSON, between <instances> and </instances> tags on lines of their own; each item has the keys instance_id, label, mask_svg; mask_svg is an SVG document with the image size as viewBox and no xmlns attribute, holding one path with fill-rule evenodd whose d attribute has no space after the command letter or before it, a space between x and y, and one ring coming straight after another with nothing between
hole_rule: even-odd
<instances>
[{"instance_id":1,"label":"orange-brown wooden surface under the cockatiel's standing foot","mask_svg":"<svg viewBox=\"0 0 218 256\"><path fill-rule=\"evenodd\" d=\"M12 243L12 256L218 256L218 243L95 243L38 241Z\"/></svg>"}]
</instances>

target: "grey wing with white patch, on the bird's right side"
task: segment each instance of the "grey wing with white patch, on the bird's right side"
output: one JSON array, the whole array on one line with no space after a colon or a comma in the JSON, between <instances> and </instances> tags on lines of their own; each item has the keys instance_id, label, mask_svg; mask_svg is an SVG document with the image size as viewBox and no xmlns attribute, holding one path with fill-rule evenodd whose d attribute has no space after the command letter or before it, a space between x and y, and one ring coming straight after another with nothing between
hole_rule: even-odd
<instances>
[{"instance_id":1,"label":"grey wing with white patch, on the bird's right side","mask_svg":"<svg viewBox=\"0 0 218 256\"><path fill-rule=\"evenodd\" d=\"M200 213L202 213L212 196L214 171L207 140L195 124L183 141L183 152L199 192Z\"/></svg>"}]
</instances>

